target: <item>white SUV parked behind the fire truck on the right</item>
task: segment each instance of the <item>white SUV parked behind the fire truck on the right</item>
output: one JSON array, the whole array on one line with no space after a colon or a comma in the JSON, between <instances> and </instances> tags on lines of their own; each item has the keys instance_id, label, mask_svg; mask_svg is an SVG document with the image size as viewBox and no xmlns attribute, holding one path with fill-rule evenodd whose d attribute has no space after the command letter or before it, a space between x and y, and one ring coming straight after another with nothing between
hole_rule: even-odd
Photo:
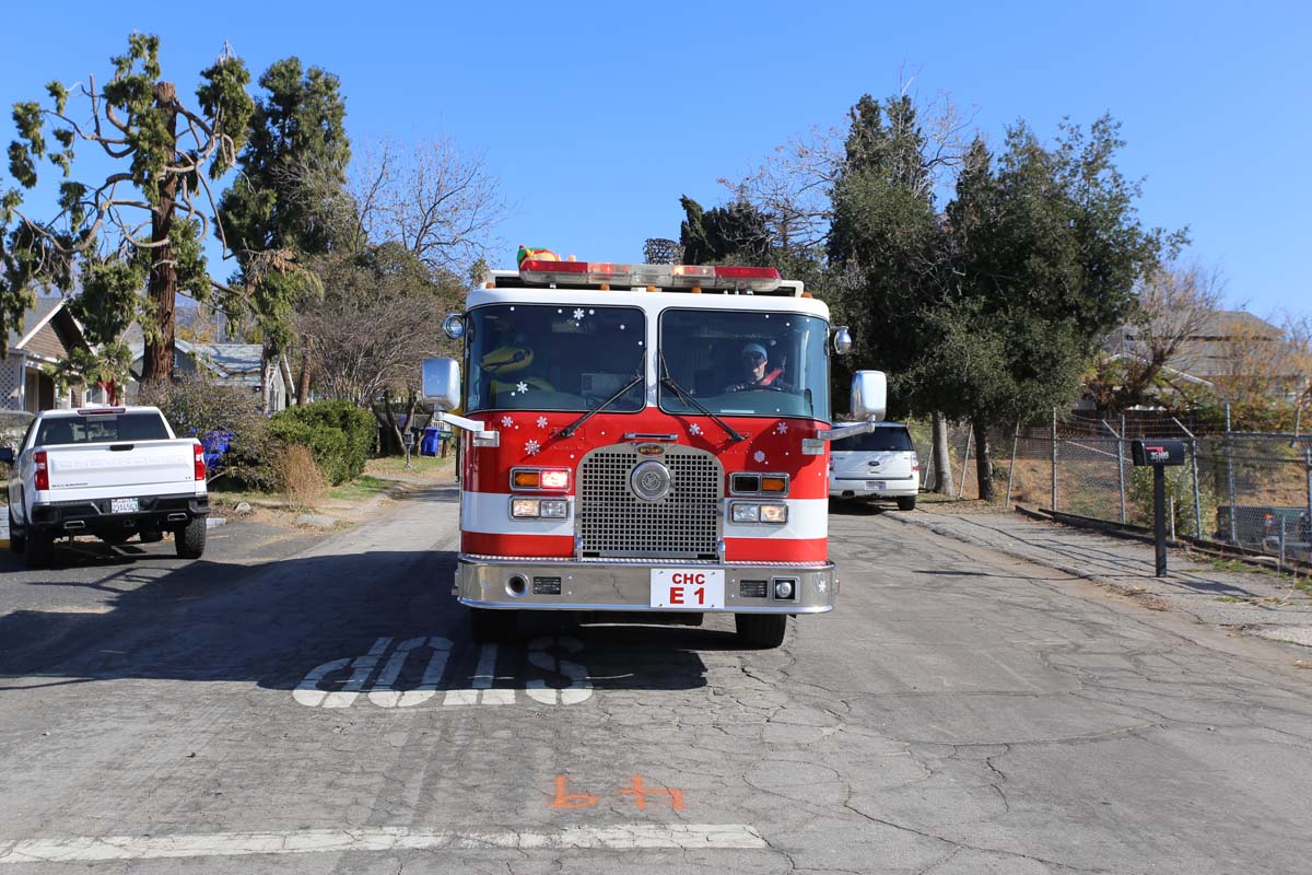
<instances>
[{"instance_id":1,"label":"white SUV parked behind the fire truck on the right","mask_svg":"<svg viewBox=\"0 0 1312 875\"><path fill-rule=\"evenodd\" d=\"M901 422L834 441L829 454L830 499L895 499L912 510L920 492L920 459Z\"/></svg>"}]
</instances>

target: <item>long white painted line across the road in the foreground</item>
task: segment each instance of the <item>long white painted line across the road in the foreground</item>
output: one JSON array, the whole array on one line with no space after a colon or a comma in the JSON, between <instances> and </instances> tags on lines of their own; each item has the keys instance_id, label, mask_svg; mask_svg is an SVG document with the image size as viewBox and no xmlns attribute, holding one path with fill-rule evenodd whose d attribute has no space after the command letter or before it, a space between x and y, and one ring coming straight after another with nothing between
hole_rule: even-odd
<instances>
[{"instance_id":1,"label":"long white painted line across the road in the foreground","mask_svg":"<svg viewBox=\"0 0 1312 875\"><path fill-rule=\"evenodd\" d=\"M415 849L638 850L646 847L715 850L766 847L766 844L756 829L744 824L626 824L618 826L565 826L555 830L433 830L408 826L369 826L361 829L302 829L286 833L0 840L0 865L241 857L248 854L336 854Z\"/></svg>"}]
</instances>

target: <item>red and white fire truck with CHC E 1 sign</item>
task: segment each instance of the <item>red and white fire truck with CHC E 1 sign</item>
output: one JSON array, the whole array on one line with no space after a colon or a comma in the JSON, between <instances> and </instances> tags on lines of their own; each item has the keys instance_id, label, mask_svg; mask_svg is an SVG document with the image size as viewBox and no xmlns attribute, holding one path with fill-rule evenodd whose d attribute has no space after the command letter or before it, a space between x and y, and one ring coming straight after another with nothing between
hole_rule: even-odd
<instances>
[{"instance_id":1,"label":"red and white fire truck with CHC E 1 sign","mask_svg":"<svg viewBox=\"0 0 1312 875\"><path fill-rule=\"evenodd\" d=\"M830 424L851 340L800 282L529 258L442 327L463 369L425 361L424 394L463 429L454 594L475 640L530 610L729 613L778 647L789 615L833 610L828 442L872 428L886 383L859 371L855 422Z\"/></svg>"}]
</instances>

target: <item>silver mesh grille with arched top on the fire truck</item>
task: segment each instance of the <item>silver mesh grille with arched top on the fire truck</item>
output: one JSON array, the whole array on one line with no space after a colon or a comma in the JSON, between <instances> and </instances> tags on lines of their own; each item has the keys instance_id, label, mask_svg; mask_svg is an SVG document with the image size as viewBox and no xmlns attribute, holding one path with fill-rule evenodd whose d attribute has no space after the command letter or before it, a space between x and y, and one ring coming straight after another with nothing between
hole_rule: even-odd
<instances>
[{"instance_id":1,"label":"silver mesh grille with arched top on the fire truck","mask_svg":"<svg viewBox=\"0 0 1312 875\"><path fill-rule=\"evenodd\" d=\"M659 501L634 495L630 474L656 459L669 468L669 493ZM716 559L724 474L714 455L666 446L640 455L632 446L593 450L579 466L577 525L583 556Z\"/></svg>"}]
</instances>

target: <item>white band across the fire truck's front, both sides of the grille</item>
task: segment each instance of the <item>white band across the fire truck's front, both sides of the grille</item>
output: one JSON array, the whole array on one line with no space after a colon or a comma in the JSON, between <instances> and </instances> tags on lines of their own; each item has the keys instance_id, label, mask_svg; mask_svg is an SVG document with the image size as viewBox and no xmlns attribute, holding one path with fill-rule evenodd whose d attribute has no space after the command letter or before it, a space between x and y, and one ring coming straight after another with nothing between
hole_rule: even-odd
<instances>
[{"instance_id":1,"label":"white band across the fire truck's front, both sides of the grille","mask_svg":"<svg viewBox=\"0 0 1312 875\"><path fill-rule=\"evenodd\" d=\"M828 499L770 499L771 504L789 505L786 523L733 523L729 517L729 501L757 501L757 499L724 500L726 538L781 538L815 539L824 538L829 527ZM510 496L504 492L462 492L461 529L488 535L564 535L573 538L575 500L569 499L567 519L512 519Z\"/></svg>"}]
</instances>

